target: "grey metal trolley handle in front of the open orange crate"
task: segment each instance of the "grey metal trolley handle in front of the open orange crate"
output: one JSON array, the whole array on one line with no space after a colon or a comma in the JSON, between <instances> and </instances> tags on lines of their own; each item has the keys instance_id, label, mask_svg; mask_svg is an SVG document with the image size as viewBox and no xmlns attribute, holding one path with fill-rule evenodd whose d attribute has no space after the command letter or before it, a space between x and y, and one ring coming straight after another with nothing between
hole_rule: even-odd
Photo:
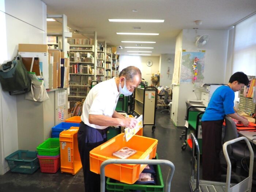
<instances>
[{"instance_id":1,"label":"grey metal trolley handle in front of the open orange crate","mask_svg":"<svg viewBox=\"0 0 256 192\"><path fill-rule=\"evenodd\" d=\"M175 166L172 162L162 159L108 159L101 163L101 192L105 192L105 166L109 164L144 164L144 165L168 165L170 167L169 174L166 180L165 192L170 192L171 181L173 178Z\"/></svg>"}]
</instances>

